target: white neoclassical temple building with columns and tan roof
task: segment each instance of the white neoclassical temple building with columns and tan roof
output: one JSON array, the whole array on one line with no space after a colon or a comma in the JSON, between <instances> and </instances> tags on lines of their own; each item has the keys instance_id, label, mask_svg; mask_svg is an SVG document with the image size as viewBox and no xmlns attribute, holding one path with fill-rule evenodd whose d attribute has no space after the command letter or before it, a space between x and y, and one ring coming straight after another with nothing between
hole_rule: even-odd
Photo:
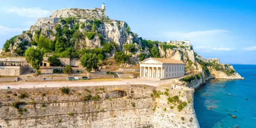
<instances>
[{"instance_id":1,"label":"white neoclassical temple building with columns and tan roof","mask_svg":"<svg viewBox=\"0 0 256 128\"><path fill-rule=\"evenodd\" d=\"M140 77L163 80L185 75L185 63L174 59L148 58L139 64Z\"/></svg>"}]
</instances>

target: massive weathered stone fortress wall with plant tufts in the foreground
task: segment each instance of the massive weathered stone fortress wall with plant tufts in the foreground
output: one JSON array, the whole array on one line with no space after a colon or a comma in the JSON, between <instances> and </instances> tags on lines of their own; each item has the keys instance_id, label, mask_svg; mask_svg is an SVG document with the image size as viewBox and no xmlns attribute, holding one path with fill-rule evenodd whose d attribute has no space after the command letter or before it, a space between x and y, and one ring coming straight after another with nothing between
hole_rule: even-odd
<instances>
[{"instance_id":1,"label":"massive weathered stone fortress wall with plant tufts in the foreground","mask_svg":"<svg viewBox=\"0 0 256 128\"><path fill-rule=\"evenodd\" d=\"M199 128L193 108L194 90L182 88L80 86L69 87L69 94L62 94L60 88L3 89L0 90L0 126ZM21 95L26 96L18 98ZM178 101L176 106L170 98ZM177 107L181 102L182 110Z\"/></svg>"}]
</instances>

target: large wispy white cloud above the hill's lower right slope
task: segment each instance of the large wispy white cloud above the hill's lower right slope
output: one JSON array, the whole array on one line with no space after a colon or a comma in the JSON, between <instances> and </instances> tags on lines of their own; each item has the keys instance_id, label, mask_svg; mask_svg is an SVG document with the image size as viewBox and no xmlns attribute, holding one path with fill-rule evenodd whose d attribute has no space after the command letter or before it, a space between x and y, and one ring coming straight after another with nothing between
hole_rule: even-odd
<instances>
[{"instance_id":1,"label":"large wispy white cloud above the hill's lower right slope","mask_svg":"<svg viewBox=\"0 0 256 128\"><path fill-rule=\"evenodd\" d=\"M192 32L161 32L157 38L166 41L189 40L195 50L209 50L207 52L234 50L234 48L229 47L233 46L239 40L237 36L233 36L231 32L223 29Z\"/></svg>"}]
</instances>

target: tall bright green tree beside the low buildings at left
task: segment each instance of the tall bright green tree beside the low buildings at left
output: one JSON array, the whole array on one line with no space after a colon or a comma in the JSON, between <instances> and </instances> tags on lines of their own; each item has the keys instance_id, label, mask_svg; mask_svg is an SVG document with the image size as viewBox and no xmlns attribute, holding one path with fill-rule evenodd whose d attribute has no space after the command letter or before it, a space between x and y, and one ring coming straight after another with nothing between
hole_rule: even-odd
<instances>
[{"instance_id":1,"label":"tall bright green tree beside the low buildings at left","mask_svg":"<svg viewBox=\"0 0 256 128\"><path fill-rule=\"evenodd\" d=\"M34 49L30 47L25 52L25 57L29 64L38 72L40 63L43 61L43 51L40 49Z\"/></svg>"}]
</instances>

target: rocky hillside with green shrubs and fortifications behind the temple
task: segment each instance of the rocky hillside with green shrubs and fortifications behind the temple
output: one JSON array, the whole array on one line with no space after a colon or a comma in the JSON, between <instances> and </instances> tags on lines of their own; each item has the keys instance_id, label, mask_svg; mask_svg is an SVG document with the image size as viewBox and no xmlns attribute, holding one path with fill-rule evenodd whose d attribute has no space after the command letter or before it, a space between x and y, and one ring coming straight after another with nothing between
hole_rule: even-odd
<instances>
[{"instance_id":1,"label":"rocky hillside with green shrubs and fortifications behind the temple","mask_svg":"<svg viewBox=\"0 0 256 128\"><path fill-rule=\"evenodd\" d=\"M204 59L190 41L159 42L139 37L125 21L110 19L101 9L62 9L37 19L30 30L7 40L1 55L23 56L28 47L42 49L45 56L79 59L96 53L99 60L138 64L148 57L171 58L186 63L188 73L203 71L206 79L241 79L231 65L218 59ZM202 70L201 70L202 69Z\"/></svg>"}]
</instances>

